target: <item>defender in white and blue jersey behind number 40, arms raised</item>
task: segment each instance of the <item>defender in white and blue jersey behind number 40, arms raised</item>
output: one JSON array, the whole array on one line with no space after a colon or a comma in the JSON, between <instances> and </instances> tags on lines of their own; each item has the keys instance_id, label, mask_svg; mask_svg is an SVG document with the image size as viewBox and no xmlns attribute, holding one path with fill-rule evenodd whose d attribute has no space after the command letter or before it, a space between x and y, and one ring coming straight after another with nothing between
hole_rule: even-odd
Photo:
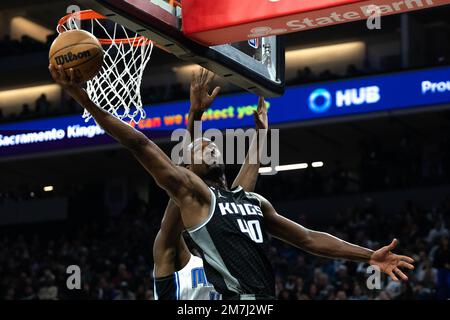
<instances>
[{"instance_id":1,"label":"defender in white and blue jersey behind number 40, arms raised","mask_svg":"<svg viewBox=\"0 0 450 320\"><path fill-rule=\"evenodd\" d=\"M201 69L194 74L191 82L191 107L188 117L188 130L194 136L194 121L201 121L220 91L217 87L211 95L208 89L214 74ZM264 99L260 98L255 111L255 126L257 130L267 129L267 109ZM257 152L257 140L254 137L249 152ZM253 191L258 177L259 162L252 164L249 156L236 177L233 187L241 186L246 191ZM180 209L170 200L161 229L153 245L155 263L155 300L217 300L220 294L214 290L207 280L203 260L193 255L184 239L184 225Z\"/></svg>"}]
</instances>

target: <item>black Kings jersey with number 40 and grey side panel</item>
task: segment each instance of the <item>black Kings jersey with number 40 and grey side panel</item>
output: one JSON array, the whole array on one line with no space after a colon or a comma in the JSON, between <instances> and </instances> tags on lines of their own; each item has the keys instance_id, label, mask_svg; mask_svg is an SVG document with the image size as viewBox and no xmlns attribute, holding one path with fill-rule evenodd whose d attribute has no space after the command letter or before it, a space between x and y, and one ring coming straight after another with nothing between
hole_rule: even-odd
<instances>
[{"instance_id":1,"label":"black Kings jersey with number 40 and grey side panel","mask_svg":"<svg viewBox=\"0 0 450 320\"><path fill-rule=\"evenodd\" d=\"M266 256L267 233L260 200L242 187L210 188L208 219L188 231L200 252L208 280L223 299L275 296L274 273Z\"/></svg>"}]
</instances>

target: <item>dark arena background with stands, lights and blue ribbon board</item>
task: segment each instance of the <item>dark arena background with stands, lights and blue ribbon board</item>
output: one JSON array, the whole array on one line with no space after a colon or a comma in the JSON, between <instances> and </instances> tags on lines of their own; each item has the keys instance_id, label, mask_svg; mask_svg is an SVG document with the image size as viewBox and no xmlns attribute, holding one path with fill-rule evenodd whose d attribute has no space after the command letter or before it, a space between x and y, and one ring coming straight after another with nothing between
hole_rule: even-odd
<instances>
[{"instance_id":1,"label":"dark arena background with stands, lights and blue ribbon board","mask_svg":"<svg viewBox=\"0 0 450 320\"><path fill-rule=\"evenodd\" d=\"M152 247L169 198L52 81L48 52L71 4L0 3L0 299L153 300ZM449 299L450 7L382 17L380 29L356 21L282 37L286 91L267 98L281 168L255 191L293 221L364 247L397 238L415 270L369 288L367 264L271 239L276 298ZM143 75L147 119L136 128L169 155L193 70L155 48ZM252 127L245 108L257 97L214 81L213 109L227 111L205 125ZM13 143L17 134L28 138ZM228 180L238 171L227 166ZM67 286L69 266L81 270L79 289Z\"/></svg>"}]
</instances>

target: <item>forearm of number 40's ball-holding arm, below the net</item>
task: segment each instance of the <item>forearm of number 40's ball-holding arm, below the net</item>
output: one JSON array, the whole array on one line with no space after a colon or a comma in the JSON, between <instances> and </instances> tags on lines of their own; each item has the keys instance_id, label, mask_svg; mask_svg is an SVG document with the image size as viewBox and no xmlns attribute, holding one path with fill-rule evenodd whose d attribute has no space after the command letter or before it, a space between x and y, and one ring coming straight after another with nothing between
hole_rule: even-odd
<instances>
[{"instance_id":1,"label":"forearm of number 40's ball-holding arm, below the net","mask_svg":"<svg viewBox=\"0 0 450 320\"><path fill-rule=\"evenodd\" d=\"M81 90L73 97L92 115L100 127L128 149L134 150L148 141L143 133L93 103L86 91Z\"/></svg>"}]
</instances>

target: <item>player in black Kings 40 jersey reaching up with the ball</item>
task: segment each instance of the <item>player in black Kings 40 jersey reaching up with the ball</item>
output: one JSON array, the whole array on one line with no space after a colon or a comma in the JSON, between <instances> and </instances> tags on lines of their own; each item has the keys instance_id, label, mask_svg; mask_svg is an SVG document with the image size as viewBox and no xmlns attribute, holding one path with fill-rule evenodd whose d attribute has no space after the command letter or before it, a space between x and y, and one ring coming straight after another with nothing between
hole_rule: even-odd
<instances>
[{"instance_id":1,"label":"player in black Kings 40 jersey reaching up with the ball","mask_svg":"<svg viewBox=\"0 0 450 320\"><path fill-rule=\"evenodd\" d=\"M194 141L191 162L175 166L143 133L96 106L73 69L50 67L56 82L80 103L113 138L129 149L180 208L190 238L203 258L206 276L223 299L271 299L274 274L265 252L268 234L315 255L361 261L378 267L394 281L407 280L400 268L414 260L397 255L394 239L377 251L329 234L309 230L283 217L264 197L227 187L221 153L211 141Z\"/></svg>"}]
</instances>

